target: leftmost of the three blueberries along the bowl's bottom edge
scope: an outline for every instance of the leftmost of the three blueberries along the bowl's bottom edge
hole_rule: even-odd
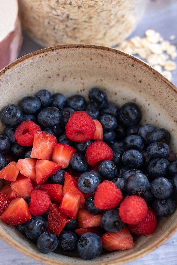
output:
[[[52,232],[44,232],[37,239],[37,248],[42,253],[50,253],[58,246],[58,238]]]

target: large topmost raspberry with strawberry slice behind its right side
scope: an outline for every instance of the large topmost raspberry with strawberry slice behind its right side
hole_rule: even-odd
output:
[[[85,111],[75,111],[69,118],[66,136],[74,142],[85,142],[94,138],[96,126],[94,120]]]

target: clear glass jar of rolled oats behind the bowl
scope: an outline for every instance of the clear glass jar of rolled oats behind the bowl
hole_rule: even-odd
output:
[[[142,18],[146,0],[19,0],[28,34],[40,45],[114,46]]]

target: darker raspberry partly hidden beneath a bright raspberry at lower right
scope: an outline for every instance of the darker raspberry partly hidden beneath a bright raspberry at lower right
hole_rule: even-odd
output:
[[[148,207],[148,212],[140,223],[137,225],[128,225],[128,229],[131,233],[139,236],[145,236],[152,234],[157,226],[157,216],[151,207]]]

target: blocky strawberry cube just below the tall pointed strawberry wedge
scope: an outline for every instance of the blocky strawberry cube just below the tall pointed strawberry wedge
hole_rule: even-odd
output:
[[[65,193],[60,204],[60,210],[72,219],[76,219],[80,205],[80,195],[73,192]]]

